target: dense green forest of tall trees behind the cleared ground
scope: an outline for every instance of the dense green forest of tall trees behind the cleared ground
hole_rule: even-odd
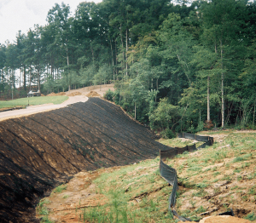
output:
[[[115,83],[106,98],[165,137],[254,129],[256,3],[62,3],[46,20],[0,45],[2,99]]]

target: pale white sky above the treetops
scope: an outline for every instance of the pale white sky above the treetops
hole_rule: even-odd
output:
[[[71,15],[81,2],[85,0],[0,0],[0,43],[14,43],[16,34],[27,33],[35,24],[44,26],[49,9],[55,3],[65,3],[70,6]],[[87,2],[100,3],[102,0]]]

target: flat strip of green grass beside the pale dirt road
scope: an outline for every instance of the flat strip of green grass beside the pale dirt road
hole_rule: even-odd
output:
[[[30,97],[15,100],[1,100],[0,108],[13,108],[17,106],[38,106],[48,103],[53,103],[55,105],[61,104],[63,101],[67,100],[67,96],[42,96],[42,97]]]

